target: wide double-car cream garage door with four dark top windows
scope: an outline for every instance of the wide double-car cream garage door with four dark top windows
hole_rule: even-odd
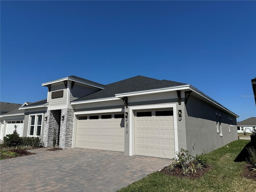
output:
[[[76,147],[124,151],[124,114],[79,115]]]

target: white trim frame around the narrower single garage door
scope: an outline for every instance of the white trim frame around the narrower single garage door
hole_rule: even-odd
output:
[[[133,156],[134,152],[134,110],[143,110],[143,109],[158,109],[158,108],[172,108],[173,109],[173,123],[174,123],[174,146],[175,152],[179,151],[178,148],[178,121],[177,121],[177,108],[176,104],[152,104],[152,105],[141,105],[141,106],[130,106],[129,113],[129,156]]]

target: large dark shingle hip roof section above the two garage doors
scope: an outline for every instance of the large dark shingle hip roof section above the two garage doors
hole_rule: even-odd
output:
[[[184,83],[169,81],[169,80],[158,80],[154,78],[148,78],[145,76],[136,76],[107,84],[105,89],[99,90],[98,92],[86,95],[84,97],[78,98],[73,102],[100,99],[100,98],[109,98],[114,97],[115,94],[127,93],[127,92],[136,92],[143,90],[152,90],[158,88],[172,87],[185,85]]]

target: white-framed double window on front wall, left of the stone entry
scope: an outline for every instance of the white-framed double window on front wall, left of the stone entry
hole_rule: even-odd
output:
[[[31,115],[30,116],[30,136],[40,136],[42,130],[42,115]]]

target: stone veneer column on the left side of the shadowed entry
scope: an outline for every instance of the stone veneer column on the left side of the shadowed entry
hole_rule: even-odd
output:
[[[53,146],[54,129],[56,130],[57,145],[60,122],[60,110],[47,110],[45,117],[47,117],[47,121],[44,123],[44,146]]]

